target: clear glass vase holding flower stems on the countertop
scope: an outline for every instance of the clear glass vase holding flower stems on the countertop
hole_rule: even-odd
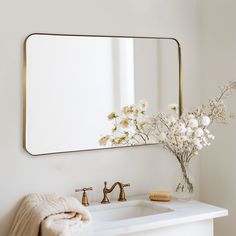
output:
[[[189,163],[180,164],[179,178],[175,188],[175,198],[178,200],[189,201],[193,198],[193,178],[189,170]]]

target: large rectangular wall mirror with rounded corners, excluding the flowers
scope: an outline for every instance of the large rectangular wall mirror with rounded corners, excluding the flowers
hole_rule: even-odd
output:
[[[26,150],[41,155],[111,147],[99,143],[111,132],[108,114],[143,99],[147,115],[172,103],[181,112],[180,65],[175,39],[30,35],[25,40]]]

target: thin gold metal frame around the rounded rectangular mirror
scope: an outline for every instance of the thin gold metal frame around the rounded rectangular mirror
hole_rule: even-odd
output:
[[[89,149],[89,150],[77,150],[77,151],[65,151],[65,152],[55,152],[55,153],[43,153],[38,155],[31,154],[27,148],[26,148],[26,43],[30,36],[32,35],[51,35],[51,36],[84,36],[84,37],[111,37],[111,38],[141,38],[141,39],[167,39],[167,40],[173,40],[176,42],[178,47],[178,62],[179,62],[179,117],[181,117],[183,113],[183,79],[182,79],[182,53],[181,53],[181,46],[179,41],[176,38],[173,37],[144,37],[144,36],[120,36],[120,35],[76,35],[76,34],[49,34],[49,33],[32,33],[28,35],[24,40],[24,82],[23,82],[23,148],[26,150],[27,153],[29,153],[31,156],[41,156],[41,155],[49,155],[49,154],[58,154],[58,153],[70,153],[70,152],[81,152],[81,151],[92,151],[92,150],[104,150],[104,148],[101,149]],[[142,144],[137,146],[143,146],[143,145],[155,145],[155,144]],[[130,146],[125,146],[130,147]],[[120,147],[109,147],[105,149],[111,149],[111,148],[120,148]]]

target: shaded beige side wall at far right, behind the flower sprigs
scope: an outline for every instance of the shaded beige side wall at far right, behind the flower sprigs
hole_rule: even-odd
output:
[[[236,79],[236,1],[201,1],[201,101],[215,94],[218,85]],[[236,113],[236,93],[230,98]],[[201,200],[229,209],[216,220],[216,236],[236,235],[236,121],[212,129],[216,139],[201,155]]]

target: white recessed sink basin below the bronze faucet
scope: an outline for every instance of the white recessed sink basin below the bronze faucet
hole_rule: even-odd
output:
[[[125,219],[163,214],[173,211],[159,206],[156,202],[147,200],[133,200],[90,206],[89,211],[96,222],[111,222]]]

